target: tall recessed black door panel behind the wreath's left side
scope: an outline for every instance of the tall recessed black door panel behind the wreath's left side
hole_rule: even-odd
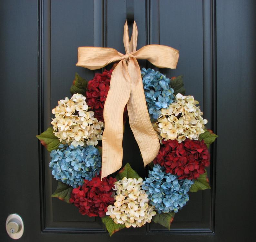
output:
[[[76,67],[77,47],[94,46],[94,1],[76,1],[76,8],[72,1],[49,1],[49,11],[44,12],[44,18],[51,19],[49,29],[51,32],[49,62],[51,63],[50,95],[51,108],[44,107],[44,113],[51,115],[51,110],[57,105],[58,100],[70,96],[70,86],[75,72],[88,80],[92,79],[94,72],[85,68]],[[95,6],[97,7],[97,5]],[[100,19],[98,19],[98,22]],[[67,57],[68,54],[68,57]],[[49,113],[50,112],[50,113]],[[48,116],[47,115],[47,116]],[[50,120],[47,125],[50,126]],[[47,126],[47,127],[48,127]],[[63,203],[58,199],[52,199],[51,194],[57,187],[57,181],[49,170],[49,154],[45,154],[44,179],[51,181],[45,187],[46,230],[68,230],[105,232],[99,218],[82,216],[76,207]],[[65,211],[65,212],[63,212]],[[86,223],[84,223],[86,222]]]

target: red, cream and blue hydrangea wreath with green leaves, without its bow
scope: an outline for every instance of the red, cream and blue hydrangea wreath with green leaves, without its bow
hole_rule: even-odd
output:
[[[114,68],[114,67],[113,67]],[[53,109],[53,127],[37,138],[50,151],[52,175],[59,181],[53,197],[74,203],[79,212],[102,218],[110,236],[123,228],[154,221],[170,229],[189,192],[210,189],[205,167],[217,138],[205,128],[198,102],[185,96],[182,76],[141,71],[148,112],[160,140],[158,155],[141,178],[127,163],[116,176],[100,179],[103,107],[113,69],[90,81],[77,73],[72,97]],[[128,117],[124,110],[124,121]]]

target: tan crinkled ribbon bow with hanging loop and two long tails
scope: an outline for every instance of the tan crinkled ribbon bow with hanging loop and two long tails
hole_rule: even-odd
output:
[[[76,66],[95,70],[119,61],[112,72],[110,89],[104,104],[102,178],[122,167],[123,110],[126,104],[130,127],[139,145],[144,166],[156,157],[160,148],[148,114],[137,59],[146,59],[156,67],[175,69],[179,51],[163,45],[147,45],[136,51],[137,37],[138,30],[134,21],[131,42],[129,41],[128,26],[125,22],[123,33],[125,55],[112,48],[78,48]]]

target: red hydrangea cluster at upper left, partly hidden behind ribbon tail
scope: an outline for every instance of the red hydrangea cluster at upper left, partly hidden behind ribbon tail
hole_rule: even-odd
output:
[[[85,93],[87,105],[94,111],[94,117],[102,122],[104,122],[103,107],[107,98],[112,72],[113,69],[110,71],[104,70],[102,74],[96,73],[94,78],[88,82],[87,91]],[[123,112],[124,122],[127,117],[127,108],[125,106]]]

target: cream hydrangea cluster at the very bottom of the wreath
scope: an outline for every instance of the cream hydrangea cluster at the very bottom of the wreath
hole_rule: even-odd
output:
[[[106,215],[110,215],[116,224],[125,224],[126,228],[141,227],[156,215],[154,206],[148,204],[148,195],[141,188],[142,184],[142,178],[126,177],[114,183],[117,195],[114,206],[108,206]]]

